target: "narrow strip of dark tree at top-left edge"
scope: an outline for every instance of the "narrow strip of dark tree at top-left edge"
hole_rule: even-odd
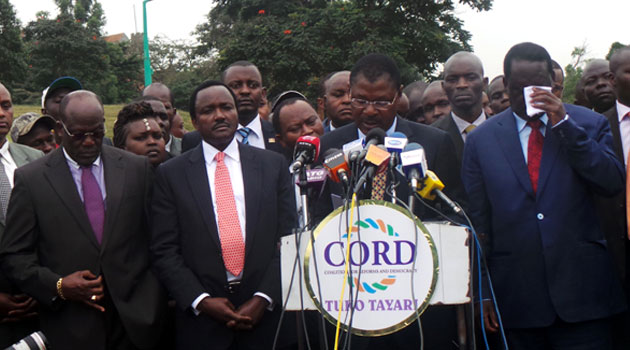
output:
[[[9,0],[0,0],[0,82],[9,89],[22,86],[26,77],[20,21]]]

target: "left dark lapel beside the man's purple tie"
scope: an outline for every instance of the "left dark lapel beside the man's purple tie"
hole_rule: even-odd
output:
[[[46,162],[46,165],[48,168],[45,170],[44,176],[50,183],[50,186],[57,193],[57,196],[59,196],[68,212],[75,218],[81,231],[97,249],[100,249],[94,235],[94,230],[92,230],[92,226],[90,225],[90,220],[85,212],[83,201],[81,201],[81,197],[79,196],[77,185],[68,168],[63,149],[59,148],[55,150]]]

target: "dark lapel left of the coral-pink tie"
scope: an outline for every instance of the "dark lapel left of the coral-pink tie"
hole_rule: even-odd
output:
[[[184,155],[185,156],[185,155]],[[210,184],[208,183],[208,171],[206,170],[206,161],[203,157],[202,144],[199,143],[188,154],[189,164],[185,169],[190,191],[197,202],[197,207],[201,210],[203,222],[206,224],[206,230],[210,233],[210,237],[214,243],[221,249],[221,241],[219,232],[217,231],[217,223],[214,218],[214,207],[212,206],[212,194],[210,193]]]

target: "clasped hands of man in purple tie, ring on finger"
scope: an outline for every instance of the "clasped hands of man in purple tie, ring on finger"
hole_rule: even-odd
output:
[[[103,276],[96,277],[91,271],[74,272],[63,278],[61,291],[67,300],[78,301],[101,312],[105,308],[97,304],[105,296]]]

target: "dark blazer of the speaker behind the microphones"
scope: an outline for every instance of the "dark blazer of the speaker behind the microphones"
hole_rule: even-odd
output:
[[[444,182],[444,192],[451,199],[460,201],[463,198],[464,190],[459,177],[460,166],[450,137],[442,130],[410,122],[400,117],[396,118],[396,131],[407,135],[409,142],[417,142],[422,145],[426,153],[429,169],[433,170],[440,180]],[[342,149],[344,144],[354,141],[358,137],[355,123],[335,129],[321,138],[320,154],[326,153],[330,148]],[[388,182],[390,180],[388,179]],[[407,179],[397,174],[396,180],[399,182],[396,188],[396,196],[407,203],[410,193]],[[330,195],[341,195],[342,192],[343,189],[340,184],[332,181],[326,183],[326,188],[315,208],[315,218],[317,220],[323,219],[333,210]],[[369,191],[364,191],[364,193],[366,194],[365,198],[367,198]],[[385,199],[390,200],[388,196]],[[447,209],[443,209],[448,213]],[[432,213],[426,211],[422,205],[416,205],[416,215],[423,219],[433,217]]]

